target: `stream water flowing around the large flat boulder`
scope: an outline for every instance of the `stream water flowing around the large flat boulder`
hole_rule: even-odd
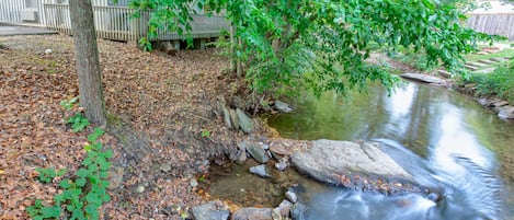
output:
[[[306,95],[294,114],[269,117],[292,139],[377,140],[437,202],[300,182],[299,219],[514,219],[514,124],[458,92],[408,83],[341,97]],[[498,197],[500,196],[500,198]]]

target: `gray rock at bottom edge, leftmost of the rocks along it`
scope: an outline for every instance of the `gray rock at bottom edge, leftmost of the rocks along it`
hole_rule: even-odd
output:
[[[192,208],[195,220],[227,220],[230,216],[228,208],[221,201],[209,201]]]

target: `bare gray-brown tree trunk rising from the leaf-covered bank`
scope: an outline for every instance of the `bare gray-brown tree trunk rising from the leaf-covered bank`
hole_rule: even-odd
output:
[[[91,123],[103,126],[107,119],[91,0],[70,0],[69,7],[79,73],[80,105]]]

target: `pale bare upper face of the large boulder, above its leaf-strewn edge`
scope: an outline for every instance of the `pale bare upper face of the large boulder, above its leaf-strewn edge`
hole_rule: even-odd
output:
[[[336,185],[347,186],[349,178],[345,177],[353,175],[359,175],[359,180],[378,176],[413,182],[413,177],[382,152],[376,142],[357,144],[350,141],[315,140],[310,150],[293,153],[292,162],[312,178]]]

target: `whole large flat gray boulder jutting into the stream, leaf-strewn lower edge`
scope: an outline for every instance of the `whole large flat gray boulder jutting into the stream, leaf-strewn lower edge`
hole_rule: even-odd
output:
[[[307,151],[296,151],[293,164],[312,178],[349,188],[381,192],[421,192],[413,177],[378,142],[312,141]]]

